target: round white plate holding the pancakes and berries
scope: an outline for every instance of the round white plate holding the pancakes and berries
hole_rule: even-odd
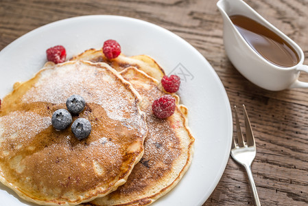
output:
[[[71,58],[85,49],[102,47],[109,38],[120,43],[123,54],[147,54],[166,73],[177,73],[182,78],[179,95],[189,108],[189,127],[196,138],[193,161],[174,190],[153,205],[202,205],[226,167],[232,115],[226,91],[214,69],[176,34],[123,16],[80,16],[50,23],[21,36],[0,52],[0,98],[12,90],[14,82],[28,80],[43,66],[47,48],[63,45]],[[0,200],[1,205],[33,205],[3,185]]]

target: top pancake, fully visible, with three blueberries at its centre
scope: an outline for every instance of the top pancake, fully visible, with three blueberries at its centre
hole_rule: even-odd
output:
[[[105,63],[47,64],[16,84],[0,109],[0,181],[42,205],[77,205],[126,182],[147,135],[141,97]],[[91,122],[83,140],[56,131],[51,115],[73,94],[86,100],[78,117]],[[73,121],[78,118],[73,117]]]

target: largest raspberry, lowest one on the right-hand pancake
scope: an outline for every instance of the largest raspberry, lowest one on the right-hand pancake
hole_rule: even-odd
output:
[[[154,100],[152,111],[158,118],[167,118],[176,111],[176,99],[171,95],[163,95],[161,98]]]

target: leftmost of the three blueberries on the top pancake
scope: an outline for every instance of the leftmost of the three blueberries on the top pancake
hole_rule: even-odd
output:
[[[64,130],[71,124],[71,113],[64,108],[60,108],[52,114],[51,124],[56,130]]]

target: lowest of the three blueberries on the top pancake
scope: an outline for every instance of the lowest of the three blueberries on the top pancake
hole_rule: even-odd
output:
[[[77,139],[84,139],[91,133],[91,123],[88,119],[78,118],[71,125],[71,130]]]

